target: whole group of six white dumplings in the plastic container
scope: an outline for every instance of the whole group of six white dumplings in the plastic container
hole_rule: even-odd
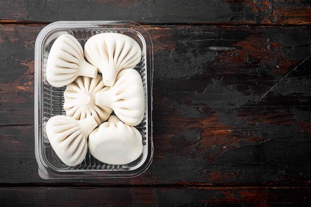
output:
[[[73,35],[55,40],[46,77],[54,87],[66,86],[66,116],[50,118],[46,133],[66,165],[80,164],[88,149],[99,161],[114,165],[142,154],[142,135],[135,126],[143,120],[145,98],[142,78],[134,69],[141,56],[139,44],[119,33],[90,37],[84,51]]]

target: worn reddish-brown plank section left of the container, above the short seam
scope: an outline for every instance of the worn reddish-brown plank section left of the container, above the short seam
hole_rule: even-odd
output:
[[[0,126],[34,124],[34,44],[41,27],[0,27]]]

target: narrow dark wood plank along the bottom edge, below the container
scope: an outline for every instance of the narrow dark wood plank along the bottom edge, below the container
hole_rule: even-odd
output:
[[[1,206],[23,207],[307,207],[311,189],[298,187],[5,187]]]

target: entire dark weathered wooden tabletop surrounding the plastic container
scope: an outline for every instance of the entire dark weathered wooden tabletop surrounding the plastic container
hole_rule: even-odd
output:
[[[59,20],[132,20],[154,44],[154,159],[43,180],[34,44]],[[0,0],[0,206],[310,206],[311,3]]]

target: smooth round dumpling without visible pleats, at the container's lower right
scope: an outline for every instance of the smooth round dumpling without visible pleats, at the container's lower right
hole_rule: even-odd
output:
[[[96,128],[88,138],[88,149],[99,161],[122,165],[135,161],[143,153],[141,133],[116,116]]]

